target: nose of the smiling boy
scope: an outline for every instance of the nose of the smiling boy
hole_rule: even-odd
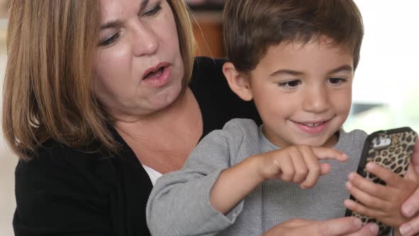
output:
[[[329,95],[323,87],[309,90],[305,93],[303,109],[307,112],[322,113],[329,109]]]

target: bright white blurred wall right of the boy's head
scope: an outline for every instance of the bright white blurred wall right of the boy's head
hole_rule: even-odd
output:
[[[410,126],[419,131],[419,1],[355,0],[364,18],[355,103],[383,103],[345,127],[368,132]]]

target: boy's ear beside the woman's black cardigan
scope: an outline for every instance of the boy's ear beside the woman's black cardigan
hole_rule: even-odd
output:
[[[236,95],[239,95],[239,97],[245,101],[253,99],[249,79],[242,73],[239,73],[233,63],[224,63],[222,66],[222,73],[224,73],[230,88]]]

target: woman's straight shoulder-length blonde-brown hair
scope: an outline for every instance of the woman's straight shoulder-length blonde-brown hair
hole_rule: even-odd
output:
[[[189,11],[183,0],[167,1],[178,28],[186,87],[194,47]],[[99,1],[11,1],[2,124],[20,159],[31,159],[48,139],[72,148],[97,140],[118,150],[107,127],[111,119],[91,86],[99,29]]]

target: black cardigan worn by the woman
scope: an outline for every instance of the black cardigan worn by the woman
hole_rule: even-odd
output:
[[[229,89],[223,63],[195,59],[190,88],[202,112],[203,136],[234,117],[261,123],[254,104]],[[122,146],[115,156],[50,140],[32,161],[18,162],[16,235],[149,235],[150,178],[124,139],[113,127],[109,129]]]

